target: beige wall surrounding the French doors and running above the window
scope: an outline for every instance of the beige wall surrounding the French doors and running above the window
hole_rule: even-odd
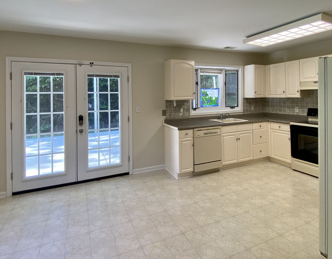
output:
[[[231,51],[135,44],[0,31],[0,89],[5,93],[5,57],[35,57],[121,62],[132,64],[133,168],[164,164],[164,128],[161,110],[164,100],[164,61],[195,60],[197,63],[262,64],[263,55]],[[135,105],[141,112],[135,113]],[[5,110],[5,94],[0,95]],[[0,113],[0,192],[6,191],[5,112]]]

